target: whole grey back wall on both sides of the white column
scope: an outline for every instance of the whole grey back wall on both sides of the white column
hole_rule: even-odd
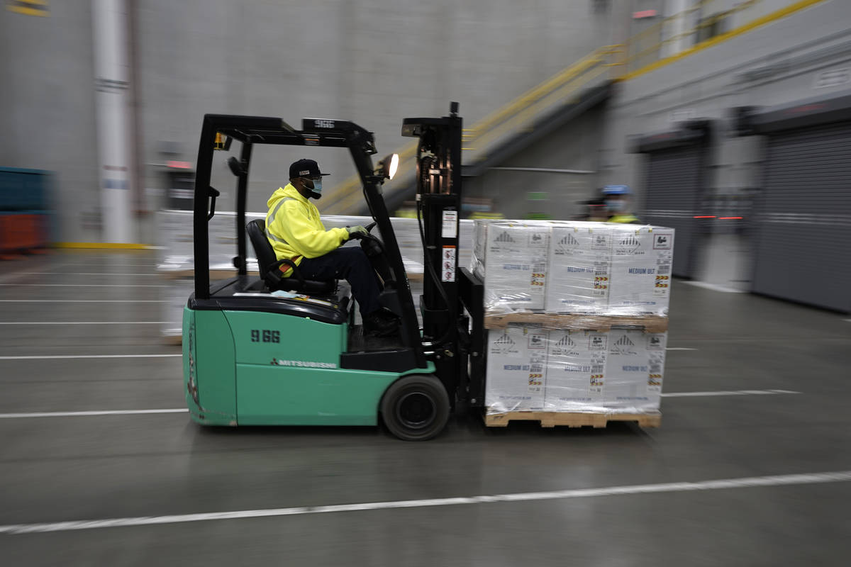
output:
[[[57,173],[60,239],[98,241],[90,0],[50,3],[49,17],[0,10],[2,161]],[[142,208],[163,204],[162,164],[191,162],[206,112],[352,120],[389,153],[405,116],[442,116],[460,101],[467,124],[600,45],[612,10],[591,0],[129,0]],[[613,9],[614,10],[614,9]],[[8,77],[8,78],[7,78]],[[169,153],[163,153],[163,150]],[[261,210],[288,163],[258,152],[249,208]],[[342,182],[345,152],[311,150]],[[232,198],[224,158],[214,185]],[[330,188],[333,191],[333,186]],[[227,202],[227,201],[225,201]],[[322,204],[322,203],[320,203]],[[224,203],[223,203],[224,205]],[[230,206],[228,206],[230,208]],[[135,217],[154,241],[150,215]]]

